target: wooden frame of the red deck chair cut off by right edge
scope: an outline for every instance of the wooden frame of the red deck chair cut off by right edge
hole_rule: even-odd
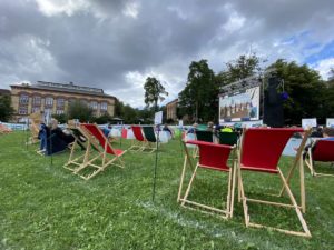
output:
[[[321,159],[315,159],[314,160],[314,153],[317,153],[317,152],[314,152],[315,150],[317,150],[316,147],[318,147],[318,143],[331,143],[331,144],[334,144],[334,141],[330,141],[330,140],[317,140],[315,142],[313,142],[312,147],[308,148],[307,152],[306,152],[306,157],[305,157],[305,164],[308,167],[310,171],[311,171],[311,174],[313,177],[334,177],[334,174],[332,173],[322,173],[322,172],[316,172],[315,169],[314,169],[314,161],[322,161]],[[334,150],[332,151],[333,153],[333,160],[332,159],[326,159],[325,161],[323,162],[332,162],[332,166],[333,166],[333,162],[334,162]]]

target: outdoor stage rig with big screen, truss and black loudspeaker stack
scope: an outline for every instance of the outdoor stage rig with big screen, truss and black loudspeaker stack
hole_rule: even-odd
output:
[[[219,94],[219,123],[283,127],[283,92],[284,81],[275,70],[224,86]]]

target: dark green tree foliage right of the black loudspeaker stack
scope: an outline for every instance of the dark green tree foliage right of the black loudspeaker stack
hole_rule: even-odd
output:
[[[324,109],[331,101],[326,100],[328,91],[317,71],[306,64],[298,66],[294,61],[286,62],[283,59],[268,68],[276,68],[277,76],[284,79],[284,88],[289,96],[284,102],[286,123],[301,124],[302,118],[324,119]]]

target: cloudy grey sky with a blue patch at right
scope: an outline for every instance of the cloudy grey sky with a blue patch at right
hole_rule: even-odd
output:
[[[256,52],[334,67],[333,0],[0,0],[0,88],[75,82],[144,106],[144,82],[183,90],[188,66],[215,72]]]

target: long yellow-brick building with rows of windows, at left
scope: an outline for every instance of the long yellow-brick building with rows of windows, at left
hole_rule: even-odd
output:
[[[66,113],[71,102],[88,104],[96,117],[115,114],[116,98],[106,94],[102,89],[75,86],[72,82],[55,83],[38,81],[35,84],[12,84],[11,103],[16,110],[14,119],[19,120],[30,113],[43,111],[51,114]]]

